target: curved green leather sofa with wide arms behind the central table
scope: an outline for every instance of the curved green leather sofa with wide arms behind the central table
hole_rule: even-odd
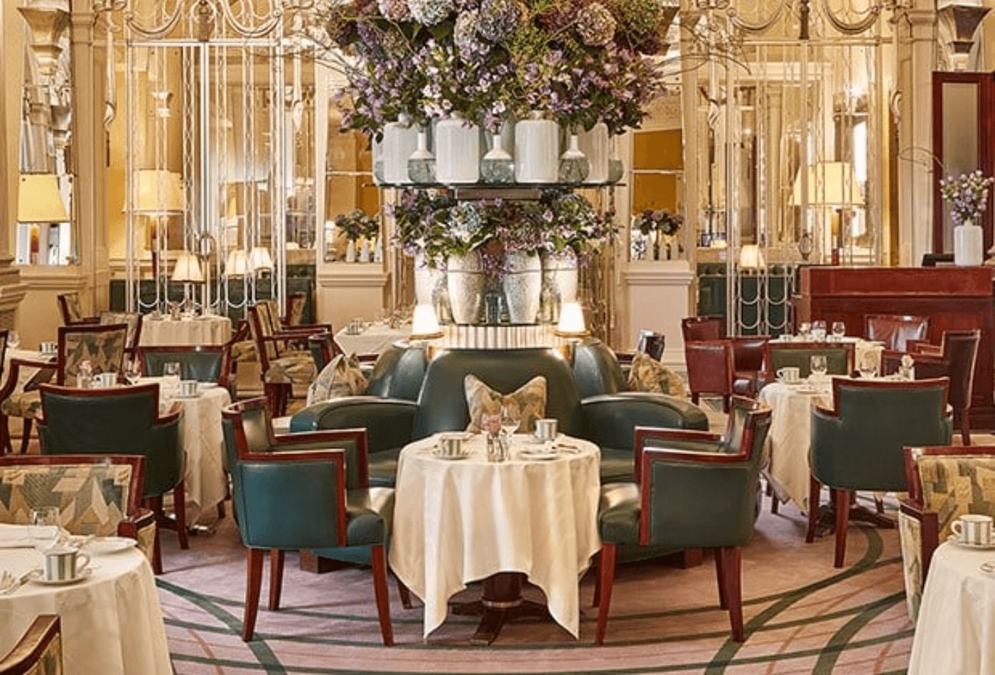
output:
[[[546,417],[556,418],[564,433],[600,445],[603,482],[631,479],[635,426],[708,427],[696,406],[662,394],[612,392],[581,399],[570,364],[552,349],[454,349],[428,363],[417,402],[347,397],[305,408],[292,419],[291,430],[365,427],[371,480],[374,485],[393,485],[397,456],[405,444],[437,431],[467,427],[470,418],[463,380],[471,373],[500,392],[511,392],[536,375],[544,376]]]

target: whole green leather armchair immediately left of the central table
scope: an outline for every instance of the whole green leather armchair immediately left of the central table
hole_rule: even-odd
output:
[[[369,547],[380,633],[385,645],[393,644],[384,547],[394,491],[369,486],[365,431],[274,434],[265,399],[225,409],[223,423],[239,534],[248,549],[242,639],[253,639],[266,551],[269,607],[276,610],[286,551],[327,556],[340,548]]]

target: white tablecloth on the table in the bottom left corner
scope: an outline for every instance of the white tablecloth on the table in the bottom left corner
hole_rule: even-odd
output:
[[[13,575],[40,564],[34,549],[0,549],[0,570]],[[38,614],[59,614],[67,675],[172,673],[159,596],[145,557],[130,549],[94,556],[93,565],[93,576],[73,586],[29,582],[0,595],[0,654],[17,643]]]

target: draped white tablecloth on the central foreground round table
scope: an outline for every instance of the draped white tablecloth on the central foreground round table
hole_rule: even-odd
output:
[[[447,601],[498,572],[524,573],[546,595],[549,613],[575,637],[578,582],[599,550],[598,464],[593,443],[553,460],[487,460],[483,435],[472,456],[445,460],[434,438],[407,445],[397,466],[390,566],[425,602],[424,634],[446,619]]]

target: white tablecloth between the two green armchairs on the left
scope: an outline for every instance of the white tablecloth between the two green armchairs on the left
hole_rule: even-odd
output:
[[[142,378],[141,383],[159,385],[159,406],[168,409],[173,403],[183,408],[180,418],[180,443],[186,452],[187,523],[196,523],[201,516],[224,500],[228,493],[224,471],[225,436],[221,426],[221,411],[231,405],[232,398],[224,387],[201,385],[196,399],[176,398],[175,387],[167,378]]]

